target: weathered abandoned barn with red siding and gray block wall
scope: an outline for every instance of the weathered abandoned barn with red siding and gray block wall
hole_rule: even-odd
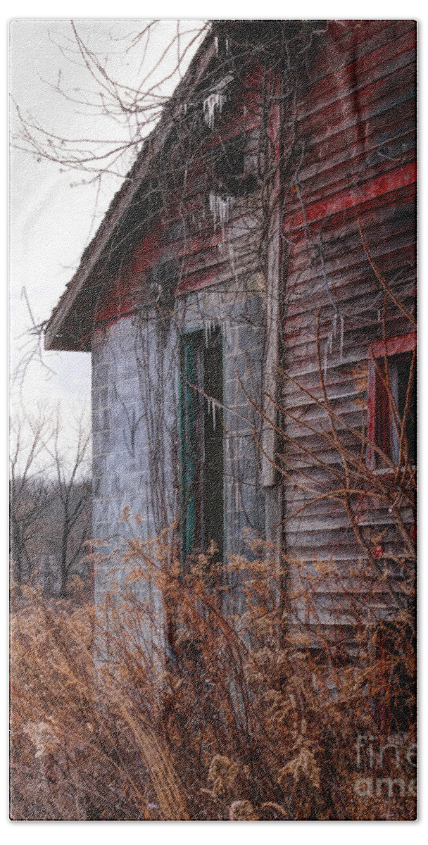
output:
[[[411,556],[415,39],[213,24],[46,329],[91,353],[107,548],[128,508],[220,569],[246,530],[344,572]]]

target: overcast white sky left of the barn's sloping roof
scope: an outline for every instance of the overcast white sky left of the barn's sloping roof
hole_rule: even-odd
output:
[[[79,35],[104,57],[109,54],[111,74],[128,85],[138,85],[142,74],[154,65],[176,34],[176,21],[161,21],[149,42],[144,67],[142,50],[125,52],[133,37],[144,27],[143,19],[77,19]],[[203,25],[203,21],[181,21],[181,30]],[[186,37],[181,39],[181,51]],[[71,49],[73,62],[63,51]],[[194,52],[196,46],[192,49]],[[188,58],[192,55],[188,54]],[[176,63],[176,47],[156,71],[161,79]],[[65,100],[55,90],[61,69],[62,85],[67,90],[95,90],[95,82],[76,51],[70,21],[64,19],[21,19],[10,24],[10,90],[24,113],[31,113],[43,127],[64,137],[127,139],[127,128],[108,117],[100,117]],[[164,86],[171,94],[178,77]],[[11,114],[12,130],[16,128]],[[127,161],[129,165],[131,161]],[[126,172],[125,167],[124,172]],[[121,184],[117,177],[103,177],[100,194],[96,185],[82,183],[84,174],[60,172],[60,166],[41,159],[35,161],[24,152],[12,149],[10,171],[10,346],[11,371],[30,348],[30,314],[23,288],[28,295],[36,323],[49,317],[64,287],[76,270],[84,247],[95,233],[113,194]],[[87,178],[87,177],[86,177]],[[31,341],[30,341],[31,342]],[[34,341],[33,341],[34,342]],[[25,406],[55,406],[58,402],[68,413],[89,407],[89,354],[46,352],[48,373],[41,363],[31,365],[24,382]],[[12,412],[19,401],[12,386]]]

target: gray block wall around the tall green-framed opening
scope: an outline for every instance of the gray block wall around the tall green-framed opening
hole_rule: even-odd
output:
[[[127,575],[109,560],[109,551],[123,548],[133,533],[158,536],[179,515],[179,339],[210,324],[221,327],[224,342],[225,553],[246,551],[246,530],[264,535],[265,493],[254,438],[256,432],[260,439],[262,419],[242,390],[261,406],[265,302],[257,274],[181,295],[165,321],[152,308],[95,331],[93,533],[105,541],[95,571],[97,602]],[[131,517],[123,521],[127,508]],[[159,596],[148,598],[160,602]]]

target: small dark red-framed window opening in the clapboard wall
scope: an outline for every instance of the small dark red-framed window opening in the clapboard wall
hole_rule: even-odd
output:
[[[388,351],[388,350],[387,350]],[[386,371],[387,365],[387,371]],[[395,466],[403,465],[407,453],[410,465],[416,463],[416,372],[414,352],[377,357],[372,360],[369,439]],[[374,450],[375,451],[375,450]],[[382,455],[372,456],[382,466]]]

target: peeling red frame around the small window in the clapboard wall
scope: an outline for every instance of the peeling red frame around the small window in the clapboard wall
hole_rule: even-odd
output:
[[[391,337],[387,341],[373,343],[369,350],[369,388],[368,388],[368,430],[367,430],[367,465],[371,469],[377,467],[377,448],[385,455],[391,455],[389,427],[386,420],[391,419],[391,405],[379,373],[380,365],[377,359],[385,360],[414,352],[416,349],[416,333],[400,337]]]

